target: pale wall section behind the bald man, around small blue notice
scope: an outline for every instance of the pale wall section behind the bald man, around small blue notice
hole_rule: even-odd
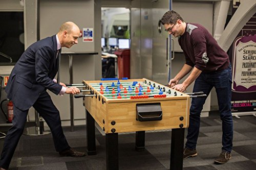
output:
[[[99,55],[73,55],[73,83],[81,83],[82,80],[99,80],[101,78],[101,48],[100,48],[100,4],[101,1],[62,0],[40,1],[40,39],[52,36],[58,32],[60,25],[66,21],[75,22],[80,30],[82,28],[94,28],[94,41],[82,42],[69,48],[62,48],[62,52],[98,52]],[[60,81],[69,83],[69,57],[61,56]],[[62,125],[70,125],[70,96],[65,94],[57,96],[49,92],[54,104],[60,111]],[[84,119],[85,111],[82,98],[74,99],[74,118]],[[63,122],[63,120],[68,120]],[[84,125],[84,120],[75,120],[75,125]]]

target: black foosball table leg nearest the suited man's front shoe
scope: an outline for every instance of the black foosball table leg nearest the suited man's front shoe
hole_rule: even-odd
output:
[[[87,154],[96,155],[95,120],[86,110]]]

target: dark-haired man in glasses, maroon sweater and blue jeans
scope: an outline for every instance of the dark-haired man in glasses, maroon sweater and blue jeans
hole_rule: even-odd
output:
[[[203,26],[184,22],[175,11],[166,12],[161,22],[165,31],[179,38],[179,44],[186,60],[180,72],[169,81],[168,85],[183,92],[195,81],[193,92],[203,91],[207,96],[212,87],[216,88],[223,134],[222,151],[215,163],[226,163],[231,158],[233,139],[230,103],[232,82],[228,55]],[[179,81],[190,71],[189,76],[179,84]],[[192,99],[183,159],[197,156],[196,144],[200,128],[200,114],[205,100],[206,98]]]

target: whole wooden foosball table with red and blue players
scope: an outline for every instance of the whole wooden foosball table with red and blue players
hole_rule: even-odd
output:
[[[96,154],[95,122],[105,132],[106,169],[118,169],[118,133],[136,132],[135,148],[145,149],[145,131],[172,129],[170,169],[182,169],[184,128],[189,124],[190,97],[148,79],[83,81],[87,152]]]

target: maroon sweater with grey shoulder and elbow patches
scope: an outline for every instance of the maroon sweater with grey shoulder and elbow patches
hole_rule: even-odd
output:
[[[201,25],[186,23],[185,33],[179,37],[186,64],[204,72],[219,71],[228,67],[228,55]]]

